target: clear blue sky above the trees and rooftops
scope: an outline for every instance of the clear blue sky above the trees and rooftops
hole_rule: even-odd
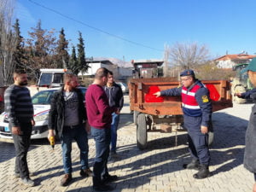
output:
[[[16,0],[21,36],[64,28],[69,47],[82,32],[86,57],[163,59],[165,46],[206,45],[212,58],[256,54],[255,0]]]

